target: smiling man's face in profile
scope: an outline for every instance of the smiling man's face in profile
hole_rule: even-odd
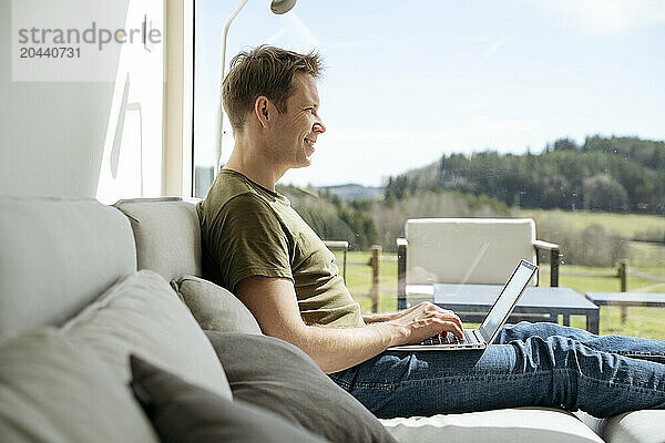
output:
[[[295,93],[288,99],[285,114],[277,115],[270,151],[275,159],[287,168],[311,164],[317,137],[326,132],[318,115],[319,97],[316,83],[307,73],[294,76]]]

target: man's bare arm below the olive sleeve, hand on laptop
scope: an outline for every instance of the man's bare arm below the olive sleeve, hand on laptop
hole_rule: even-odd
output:
[[[444,330],[462,337],[460,319],[432,303],[421,303],[387,321],[361,328],[305,324],[291,280],[248,277],[235,289],[266,336],[286,340],[331,373],[361,363],[391,346],[420,342]]]

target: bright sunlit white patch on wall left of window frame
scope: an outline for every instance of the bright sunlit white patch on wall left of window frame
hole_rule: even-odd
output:
[[[163,28],[160,1],[130,2],[125,28]],[[163,44],[124,44],[115,76],[96,198],[156,197],[162,189]]]

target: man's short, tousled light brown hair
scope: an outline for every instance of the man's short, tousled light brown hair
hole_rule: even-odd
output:
[[[321,71],[321,58],[315,51],[298,54],[262,45],[238,53],[231,61],[231,70],[222,83],[222,101],[233,131],[243,131],[247,113],[254,110],[254,102],[262,95],[284,114],[286,102],[295,92],[296,72],[318,79]]]

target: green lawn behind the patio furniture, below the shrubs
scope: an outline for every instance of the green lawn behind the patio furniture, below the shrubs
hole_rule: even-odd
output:
[[[338,264],[341,268],[341,254],[336,253]],[[368,262],[370,253],[351,251],[347,255],[348,268],[346,282],[354,298],[360,303],[364,312],[371,311],[371,300],[367,297],[371,287],[371,267],[356,265],[355,262]],[[380,286],[381,297],[379,299],[379,311],[389,312],[397,309],[397,255],[383,254],[381,261]],[[354,262],[354,264],[350,264]],[[628,290],[641,292],[665,292],[665,284],[654,282],[637,277],[631,277],[630,272],[644,272],[649,275],[665,276],[663,267],[630,267]],[[340,269],[341,272],[341,269]],[[618,278],[594,277],[594,275],[613,275],[615,268],[586,268],[581,266],[562,266],[560,268],[559,286],[569,287],[576,292],[618,292]],[[581,276],[567,276],[565,274]],[[550,276],[548,266],[542,267],[541,282],[549,286]],[[658,308],[628,308],[626,324],[621,324],[621,309],[617,307],[601,308],[601,333],[620,333],[646,338],[665,338],[665,309]],[[571,324],[583,328],[583,317],[572,317]]]

